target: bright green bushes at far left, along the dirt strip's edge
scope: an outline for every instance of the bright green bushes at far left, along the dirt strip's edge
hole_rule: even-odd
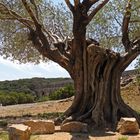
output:
[[[26,93],[2,93],[0,92],[0,103],[2,105],[14,105],[14,104],[23,104],[23,103],[33,103],[34,96]]]

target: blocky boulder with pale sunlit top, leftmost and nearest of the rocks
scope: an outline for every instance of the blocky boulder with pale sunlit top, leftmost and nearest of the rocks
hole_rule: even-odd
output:
[[[13,124],[9,126],[9,140],[29,140],[30,127],[23,124]]]

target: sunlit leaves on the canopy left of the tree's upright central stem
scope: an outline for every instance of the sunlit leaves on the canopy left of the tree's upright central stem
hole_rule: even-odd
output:
[[[11,10],[14,10],[23,18],[30,19],[21,1],[0,0],[0,2],[4,3],[8,8],[10,7]],[[61,34],[64,36],[70,35],[70,14],[64,8],[64,5],[55,5],[51,0],[36,0],[35,2],[38,7],[39,22],[44,24],[44,27],[59,33],[59,36]],[[30,6],[35,12],[33,5],[30,4]],[[4,58],[18,60],[22,63],[39,63],[40,60],[48,61],[48,59],[42,58],[33,47],[33,43],[29,40],[29,30],[16,20],[4,20],[8,17],[11,16],[2,10],[0,11],[0,19],[3,19],[0,21],[0,27],[2,27],[0,28],[0,42],[2,42],[0,54]],[[56,29],[57,31],[55,31]]]

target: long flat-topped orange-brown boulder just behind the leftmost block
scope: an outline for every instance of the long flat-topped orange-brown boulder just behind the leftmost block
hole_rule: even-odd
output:
[[[28,120],[24,124],[31,127],[32,134],[52,134],[55,131],[54,122],[51,120]]]

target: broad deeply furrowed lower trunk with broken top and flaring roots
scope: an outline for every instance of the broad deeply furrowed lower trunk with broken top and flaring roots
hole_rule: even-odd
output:
[[[66,111],[71,117],[64,123],[78,120],[98,128],[116,128],[120,117],[135,117],[140,124],[140,116],[124,103],[120,95],[122,60],[118,53],[96,45],[88,46],[86,71],[81,69],[79,78],[74,80],[77,94]]]

